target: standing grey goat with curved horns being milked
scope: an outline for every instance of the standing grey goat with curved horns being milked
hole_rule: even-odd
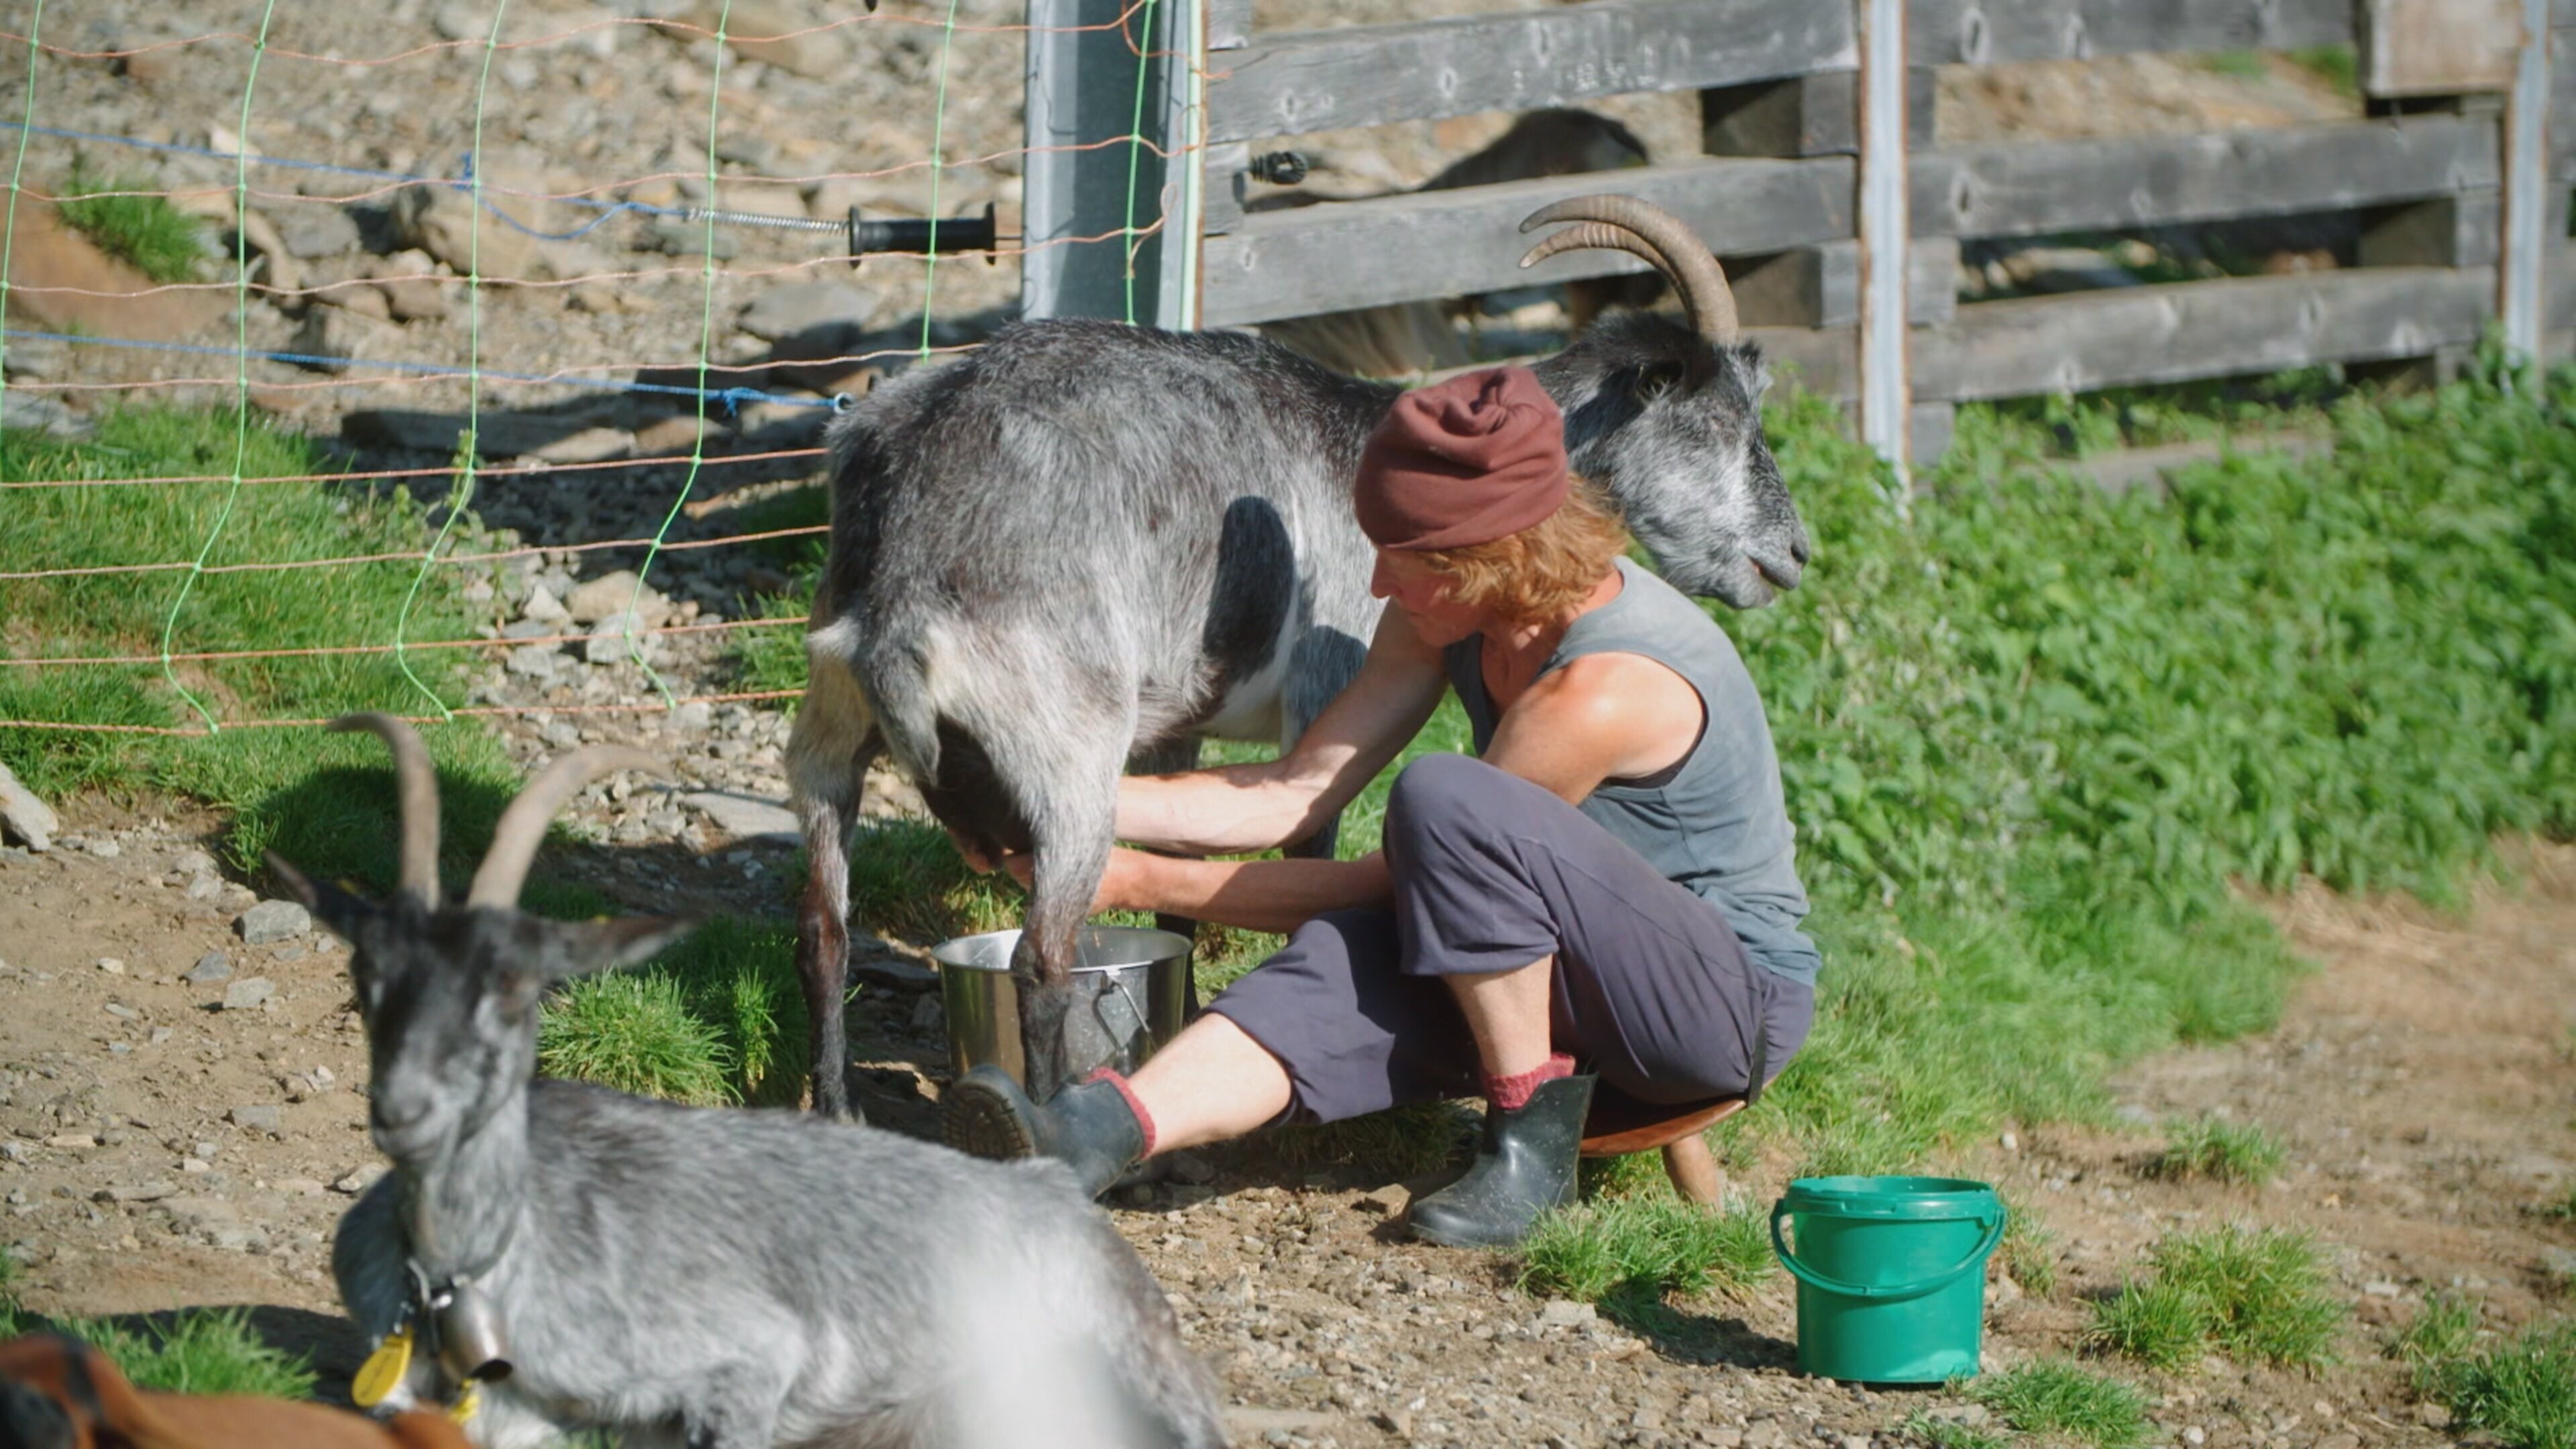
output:
[[[1558,201],[1522,229],[1553,222],[1574,224],[1522,266],[1625,250],[1692,320],[1613,315],[1535,364],[1574,469],[1674,585],[1736,608],[1793,588],[1808,536],[1718,260],[1633,196]],[[786,761],[817,1111],[848,1114],[845,851],[876,753],[979,851],[1036,851],[1012,980],[1028,1085],[1051,1093],[1121,766],[1177,768],[1200,735],[1285,748],[1358,673],[1378,601],[1350,485],[1396,392],[1260,338],[1023,322],[835,423],[832,557]],[[1309,848],[1332,851],[1332,822]]]

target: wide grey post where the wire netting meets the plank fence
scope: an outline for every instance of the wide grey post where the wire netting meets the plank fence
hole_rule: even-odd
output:
[[[1167,266],[1164,242],[1185,229],[1180,211],[1195,227],[1195,209],[1172,206],[1167,227],[1136,237],[1133,258],[1128,227],[1144,232],[1170,201],[1198,196],[1195,175],[1175,175],[1180,188],[1164,196],[1167,173],[1195,165],[1167,168],[1162,152],[1175,124],[1195,124],[1200,26],[1200,0],[1028,0],[1023,315],[1185,325],[1195,258]],[[1128,134],[1141,142],[1100,144]]]

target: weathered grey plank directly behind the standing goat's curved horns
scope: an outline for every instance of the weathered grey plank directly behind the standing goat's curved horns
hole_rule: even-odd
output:
[[[1685,219],[1718,255],[1780,253],[1852,235],[1852,162],[1690,160],[1615,178],[1551,175],[1247,214],[1208,237],[1206,325],[1267,322],[1646,271],[1625,253],[1569,253],[1520,271],[1538,237],[1520,219],[1564,196],[1613,188]]]

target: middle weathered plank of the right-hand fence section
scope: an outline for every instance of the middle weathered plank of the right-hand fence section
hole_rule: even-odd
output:
[[[2496,121],[2470,116],[1942,147],[1914,165],[1914,235],[2027,237],[2439,196],[2496,186]]]

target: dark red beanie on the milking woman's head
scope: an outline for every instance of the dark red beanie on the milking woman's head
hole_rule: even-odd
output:
[[[1360,449],[1352,508],[1381,549],[1463,549],[1566,500],[1566,420],[1525,366],[1417,387]]]

